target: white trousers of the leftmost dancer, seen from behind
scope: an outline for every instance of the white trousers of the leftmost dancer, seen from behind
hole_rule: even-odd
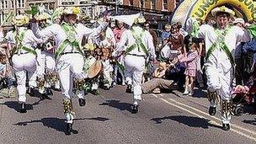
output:
[[[22,55],[13,55],[13,69],[15,75],[17,77],[17,89],[19,93],[19,101],[25,102],[26,101],[26,72],[28,72],[28,78],[34,77],[32,79],[35,80],[35,70],[36,70],[36,58],[33,54],[22,54]],[[30,84],[33,81],[29,81],[29,86],[35,85]]]

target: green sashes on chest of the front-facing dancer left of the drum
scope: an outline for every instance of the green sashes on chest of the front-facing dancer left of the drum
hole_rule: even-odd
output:
[[[74,27],[70,24],[63,23],[61,24],[61,28],[65,31],[67,39],[61,42],[54,56],[60,56],[61,53],[67,48],[67,45],[71,45],[73,48],[75,48],[77,51],[83,54],[83,52],[80,49],[80,45],[76,39],[76,30],[74,29]]]

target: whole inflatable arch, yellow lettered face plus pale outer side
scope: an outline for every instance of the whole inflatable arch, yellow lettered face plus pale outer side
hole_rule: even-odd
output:
[[[246,20],[256,19],[256,3],[253,0],[184,0],[174,11],[172,22],[184,24],[190,17],[205,20],[211,9],[223,4],[232,5],[236,16],[242,15]]]

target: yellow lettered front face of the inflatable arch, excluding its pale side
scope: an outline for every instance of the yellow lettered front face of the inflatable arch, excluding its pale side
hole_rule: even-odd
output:
[[[231,4],[240,9],[248,20],[256,19],[256,3],[253,0],[198,0],[191,8],[190,17],[205,20],[211,9],[223,4]]]

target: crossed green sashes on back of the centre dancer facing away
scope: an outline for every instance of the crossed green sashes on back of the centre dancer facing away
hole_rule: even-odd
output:
[[[147,48],[142,43],[142,40],[141,40],[143,32],[144,32],[144,29],[143,29],[143,31],[141,32],[140,35],[136,35],[135,29],[131,28],[131,34],[134,37],[134,39],[136,40],[136,42],[126,49],[125,55],[127,55],[129,52],[131,52],[132,50],[134,50],[137,47],[138,51],[143,51],[148,56]]]

